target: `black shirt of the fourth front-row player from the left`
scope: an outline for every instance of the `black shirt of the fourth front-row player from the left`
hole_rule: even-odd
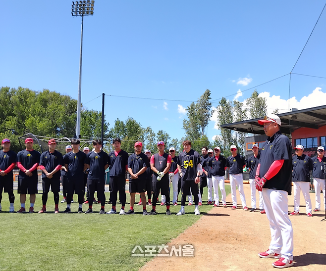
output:
[[[63,163],[68,165],[67,178],[70,180],[84,180],[84,164],[86,154],[82,151],[73,153],[72,151],[64,155]]]

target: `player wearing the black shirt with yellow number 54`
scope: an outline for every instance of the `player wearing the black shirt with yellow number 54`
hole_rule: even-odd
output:
[[[190,195],[190,190],[194,196],[195,215],[200,215],[198,210],[198,183],[200,176],[203,174],[202,165],[199,153],[191,149],[191,142],[184,140],[182,142],[184,151],[179,154],[177,164],[178,171],[181,176],[181,210],[176,214],[177,216],[184,215],[184,206],[186,203],[186,196]]]

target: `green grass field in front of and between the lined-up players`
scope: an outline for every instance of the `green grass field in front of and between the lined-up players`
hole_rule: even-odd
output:
[[[227,194],[230,186],[225,185]],[[109,194],[106,194],[107,199]],[[20,208],[15,194],[15,211]],[[180,197],[180,195],[179,195]],[[76,195],[75,198],[77,199]],[[139,195],[136,196],[138,201]],[[207,203],[204,189],[205,215],[212,206]],[[62,196],[60,196],[62,200]],[[129,194],[127,194],[129,202]],[[179,204],[179,203],[178,203]],[[99,215],[100,205],[94,204],[93,214],[55,214],[53,194],[49,193],[46,214],[9,214],[9,201],[2,193],[0,213],[0,270],[1,271],[102,271],[138,270],[152,257],[131,257],[136,245],[162,245],[194,224],[200,216],[194,215],[194,206],[186,206],[186,214],[175,216],[180,205],[171,206],[171,216],[165,215],[165,206],[157,206],[156,216],[143,216],[142,207],[135,205],[136,215]],[[59,203],[63,211],[65,203]],[[83,205],[86,211],[88,206]],[[109,211],[111,205],[107,206]],[[26,210],[29,208],[27,198]],[[42,208],[42,195],[37,195],[35,211]],[[126,205],[126,210],[129,204]],[[120,205],[117,204],[117,209]],[[150,206],[148,206],[148,211]],[[71,204],[77,212],[78,203]]]

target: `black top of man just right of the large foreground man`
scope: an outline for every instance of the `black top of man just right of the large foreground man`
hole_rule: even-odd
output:
[[[313,161],[308,155],[295,155],[292,158],[292,181],[310,182],[310,171],[313,170]]]

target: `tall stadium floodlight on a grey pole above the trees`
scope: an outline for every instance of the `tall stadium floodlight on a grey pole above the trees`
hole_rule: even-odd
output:
[[[71,5],[71,15],[72,16],[81,16],[82,17],[82,29],[81,29],[81,38],[80,38],[80,60],[79,60],[79,81],[78,81],[76,138],[80,138],[81,74],[82,74],[82,55],[83,55],[84,16],[91,16],[91,15],[94,14],[94,2],[95,2],[94,0],[92,0],[92,1],[90,1],[90,0],[72,1],[72,5]]]

